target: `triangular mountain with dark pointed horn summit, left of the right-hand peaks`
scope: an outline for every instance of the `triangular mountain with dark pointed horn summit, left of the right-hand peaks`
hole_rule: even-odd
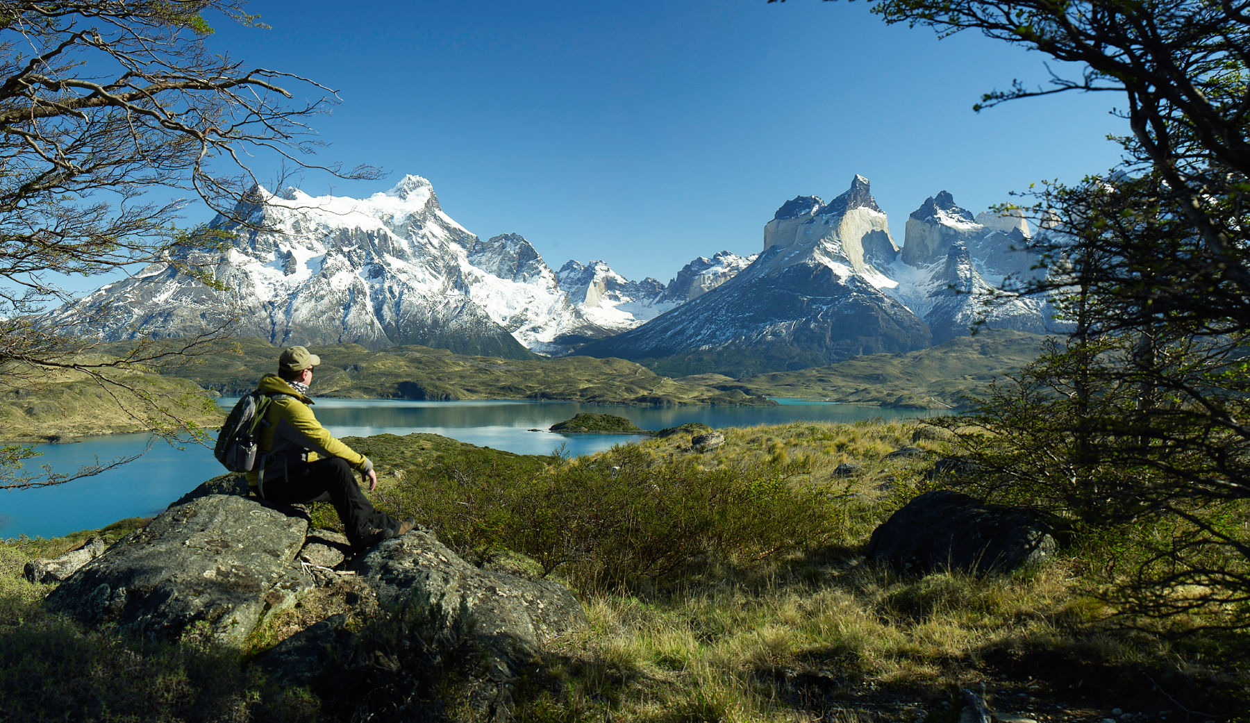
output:
[[[885,293],[899,246],[885,214],[855,176],[829,201],[799,196],[764,228],[764,253],[728,281],[579,350],[594,356],[682,355],[690,372],[751,372],[829,364],[931,344],[929,328]],[[706,355],[719,355],[708,360]],[[694,360],[699,356],[699,360]],[[708,369],[702,369],[704,360]]]

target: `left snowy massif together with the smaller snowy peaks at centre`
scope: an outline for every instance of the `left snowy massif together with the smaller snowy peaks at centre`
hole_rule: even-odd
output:
[[[631,329],[689,298],[651,278],[630,281],[604,261],[569,261],[556,274],[519,234],[470,233],[414,175],[368,199],[258,188],[235,214],[248,224],[224,216],[210,224],[236,234],[225,253],[182,251],[50,318],[112,340],[185,336],[238,316],[239,334],[274,344],[422,344],[522,356],[525,348],[566,354],[569,344]],[[721,278],[745,265],[735,268],[735,259],[726,256]]]

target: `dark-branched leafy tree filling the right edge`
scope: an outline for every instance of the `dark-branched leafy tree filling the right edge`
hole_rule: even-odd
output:
[[[770,0],[772,1],[772,0]],[[1032,194],[1050,294],[1074,331],[984,400],[965,434],[986,497],[1046,507],[1135,560],[1109,593],[1156,615],[1250,625],[1250,3],[875,0],[890,24],[1040,51],[1074,75],[976,110],[1115,93],[1124,161]]]

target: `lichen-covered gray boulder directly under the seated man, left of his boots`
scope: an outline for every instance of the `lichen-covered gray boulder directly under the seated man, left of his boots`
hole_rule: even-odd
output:
[[[45,605],[155,639],[178,639],[204,623],[212,639],[236,645],[271,603],[291,604],[311,587],[292,572],[306,530],[305,519],[241,497],[201,497],[119,540]]]

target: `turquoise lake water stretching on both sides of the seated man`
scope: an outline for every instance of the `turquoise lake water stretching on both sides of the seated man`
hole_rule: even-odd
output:
[[[235,399],[224,398],[229,409]],[[560,435],[542,429],[579,412],[616,414],[641,429],[664,429],[690,422],[709,427],[750,427],[795,420],[858,422],[872,417],[926,417],[925,410],[881,409],[825,403],[786,403],[781,407],[624,407],[576,402],[402,402],[389,399],[319,399],[318,419],[335,437],[409,434],[428,432],[518,454],[550,454],[561,444],[570,454],[601,452],[634,435]],[[41,444],[42,457],[31,468],[51,464],[76,469],[141,452],[146,434],[94,437],[78,444]],[[156,443],[141,459],[100,475],[58,487],[0,490],[0,537],[55,537],[104,527],[126,517],[164,509],[200,482],[225,472],[212,452],[200,445],[178,449]]]

